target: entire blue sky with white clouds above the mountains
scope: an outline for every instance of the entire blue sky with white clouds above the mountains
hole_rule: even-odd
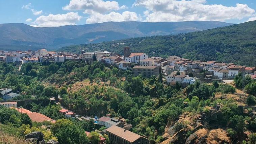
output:
[[[211,20],[256,20],[256,0],[0,0],[0,23],[34,27]]]

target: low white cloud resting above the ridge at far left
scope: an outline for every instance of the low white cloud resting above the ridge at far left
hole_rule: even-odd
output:
[[[78,12],[68,12],[66,14],[40,16],[32,23],[34,27],[58,27],[64,25],[75,25],[82,17]]]

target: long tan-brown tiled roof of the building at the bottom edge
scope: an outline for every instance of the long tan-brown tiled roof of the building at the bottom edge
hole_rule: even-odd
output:
[[[116,136],[119,136],[119,137],[121,137],[121,138],[123,138],[123,139],[125,139],[125,140],[127,140],[131,143],[133,143],[134,141],[136,141],[137,139],[142,137],[140,135],[137,135],[133,132],[130,132],[128,130],[125,130],[125,129],[123,129],[121,127],[118,127],[118,126],[115,126],[115,125],[107,128],[106,131],[110,132],[110,133],[112,133]],[[147,139],[147,138],[145,138],[145,139]]]

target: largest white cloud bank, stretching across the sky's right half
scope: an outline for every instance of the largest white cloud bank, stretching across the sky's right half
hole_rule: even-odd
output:
[[[225,21],[251,17],[255,10],[246,4],[208,5],[206,0],[136,0],[133,6],[144,6],[147,22],[162,21]]]

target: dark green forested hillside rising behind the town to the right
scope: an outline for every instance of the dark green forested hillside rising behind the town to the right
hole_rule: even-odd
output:
[[[125,45],[118,45],[125,43]],[[193,60],[217,60],[238,65],[256,65],[256,21],[234,24],[178,35],[150,36],[63,47],[60,51],[107,50],[123,54],[124,46],[132,52],[150,56],[178,55]]]

